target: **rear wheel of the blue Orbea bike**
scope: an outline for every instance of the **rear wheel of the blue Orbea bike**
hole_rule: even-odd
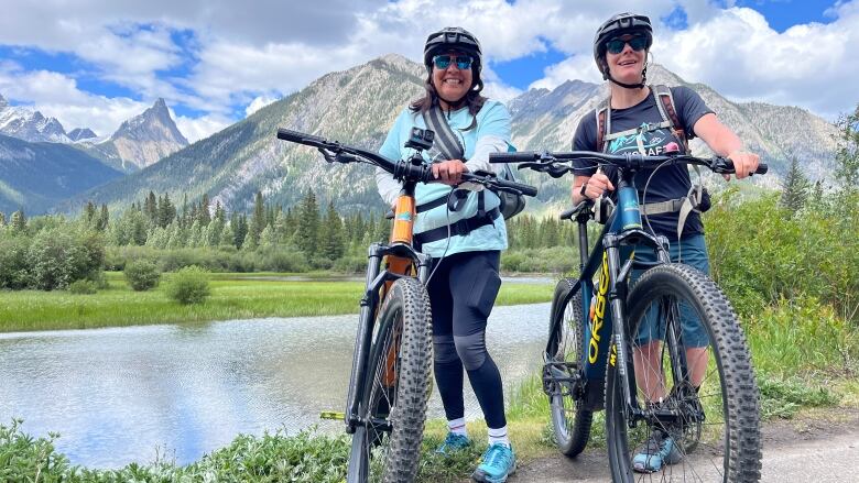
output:
[[[552,300],[553,320],[550,330],[552,343],[546,353],[544,387],[548,394],[552,415],[552,429],[555,442],[562,453],[575,457],[585,450],[590,438],[590,425],[594,411],[585,408],[581,391],[581,356],[584,348],[584,320],[581,290],[572,292],[576,281],[562,278],[555,287]],[[555,319],[561,320],[555,320]],[[573,381],[558,383],[554,377],[568,377]]]

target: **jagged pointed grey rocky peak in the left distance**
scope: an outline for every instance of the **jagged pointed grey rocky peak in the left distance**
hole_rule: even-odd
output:
[[[164,99],[124,121],[108,140],[81,144],[87,153],[124,173],[151,166],[187,145],[188,141],[176,128]]]

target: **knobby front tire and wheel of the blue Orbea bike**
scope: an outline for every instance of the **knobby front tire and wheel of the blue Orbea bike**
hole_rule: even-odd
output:
[[[639,421],[635,429],[630,429],[618,371],[609,365],[606,380],[606,432],[612,480],[759,481],[761,436],[758,386],[746,337],[721,290],[707,275],[688,265],[665,264],[641,276],[629,294],[627,307],[630,347],[634,344],[639,325],[646,314],[655,311],[660,319],[664,316],[665,342],[649,345],[660,347],[656,351],[660,366],[655,370],[660,371],[664,398],[657,405],[650,403],[651,406],[646,406],[642,389],[637,389],[633,376],[630,376],[630,385],[637,391],[642,407],[667,408],[677,418],[671,422],[653,422],[653,419],[650,422]],[[709,353],[704,352],[709,358],[708,364],[702,371],[704,377],[697,388],[691,382],[693,376],[686,373],[684,377],[682,369],[683,364],[686,364],[685,367],[691,366],[686,360],[688,352],[678,350],[685,337],[679,328],[679,312],[689,309],[697,312],[709,338],[706,348]],[[662,330],[662,327],[657,330]],[[645,345],[642,343],[641,348]],[[642,367],[640,377],[649,373],[643,370],[646,356],[642,353],[639,354]],[[627,367],[628,373],[633,374],[635,364],[631,349],[627,354]],[[668,381],[672,384],[670,389]],[[681,459],[676,464],[663,465],[657,472],[633,473],[631,459],[635,449],[631,439],[638,437],[642,443],[653,428],[660,429],[660,435],[667,433],[674,438],[678,451],[676,454]]]

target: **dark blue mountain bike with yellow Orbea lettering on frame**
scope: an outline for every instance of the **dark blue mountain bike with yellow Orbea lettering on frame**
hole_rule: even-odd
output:
[[[717,285],[692,266],[671,263],[667,239],[645,229],[633,184],[644,168],[683,163],[728,174],[732,163],[678,154],[490,155],[491,163],[520,163],[553,177],[576,173],[574,160],[616,166],[619,183],[613,210],[602,198],[561,215],[578,223],[580,275],[555,288],[544,353],[543,391],[558,449],[568,457],[580,453],[595,413],[605,407],[615,482],[758,481],[759,393],[743,332]],[[765,172],[762,164],[758,173]],[[605,227],[588,252],[587,224],[595,217]],[[635,260],[634,250],[645,249],[655,251],[655,262]],[[644,272],[628,289],[633,270]],[[683,322],[694,318],[709,341],[703,349],[684,340],[692,338]],[[634,473],[633,452],[651,437],[665,448],[671,437],[681,459],[659,472]]]

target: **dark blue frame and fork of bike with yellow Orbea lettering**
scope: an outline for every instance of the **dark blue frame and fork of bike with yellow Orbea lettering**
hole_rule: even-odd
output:
[[[632,364],[628,361],[629,343],[626,322],[627,292],[629,277],[634,264],[635,245],[646,245],[656,251],[659,262],[668,263],[667,240],[657,238],[642,229],[641,211],[638,191],[632,183],[634,169],[619,169],[620,182],[618,184],[618,206],[606,222],[602,232],[591,252],[588,252],[587,223],[592,217],[591,204],[581,204],[572,213],[578,223],[579,268],[580,275],[570,293],[581,290],[581,314],[587,320],[584,323],[584,338],[581,347],[581,366],[579,371],[584,381],[575,381],[558,367],[547,367],[551,382],[572,385],[584,383],[584,402],[590,409],[601,409],[605,397],[606,364],[618,366],[618,373],[623,381],[623,397],[627,400],[628,410],[633,419],[643,418],[644,415],[635,398],[635,377]],[[648,265],[652,266],[652,265]],[[599,284],[594,286],[594,277],[599,273]],[[591,314],[592,317],[587,315]],[[564,307],[556,307],[563,310]],[[608,312],[608,314],[607,314]],[[610,316],[610,326],[605,323]],[[554,318],[559,323],[562,318]],[[558,327],[550,330],[550,340],[546,343],[546,354],[557,343],[556,338],[561,333]],[[612,343],[613,342],[613,343]],[[685,356],[681,354],[683,365]],[[548,358],[546,358],[548,359]],[[557,363],[550,363],[553,365]],[[686,371],[686,367],[681,367]]]

